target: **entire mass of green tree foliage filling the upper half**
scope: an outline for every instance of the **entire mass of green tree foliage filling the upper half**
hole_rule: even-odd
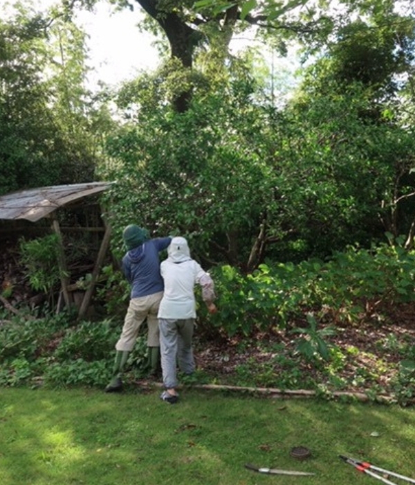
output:
[[[71,17],[81,3],[95,4],[2,24],[4,39],[17,35],[0,65],[3,190],[99,174],[116,181],[109,197],[118,233],[139,214],[154,233],[187,235],[208,263],[248,272],[267,258],[370,245],[385,231],[411,244],[412,11],[375,0],[340,2],[340,10],[311,1],[139,1],[172,59],[100,93],[97,104],[82,84],[84,33]],[[273,52],[295,39],[308,56],[288,101],[275,82],[282,73],[267,62],[259,69],[249,50],[228,51],[232,35],[253,24]],[[167,35],[173,25],[191,42]]]

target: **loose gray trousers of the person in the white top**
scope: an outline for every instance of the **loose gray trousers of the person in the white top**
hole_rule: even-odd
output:
[[[194,372],[192,337],[194,318],[158,319],[160,328],[161,368],[166,389],[177,387],[178,368],[186,373]]]

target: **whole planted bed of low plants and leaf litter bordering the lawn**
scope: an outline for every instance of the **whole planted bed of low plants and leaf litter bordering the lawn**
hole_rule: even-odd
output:
[[[264,265],[248,277],[229,266],[216,270],[219,313],[210,317],[199,308],[197,370],[182,376],[182,385],[356,394],[412,405],[414,257],[399,247],[350,249],[328,263]],[[16,302],[1,297],[9,303],[0,326],[1,384],[104,387],[125,305],[120,294],[103,294],[101,312],[86,321],[44,310],[35,318],[24,302],[17,311]],[[129,357],[131,386],[158,382],[146,380],[145,331]]]

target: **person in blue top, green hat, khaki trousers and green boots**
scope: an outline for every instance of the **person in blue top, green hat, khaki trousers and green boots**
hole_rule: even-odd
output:
[[[106,392],[122,391],[122,371],[136,344],[138,330],[146,319],[150,373],[156,372],[160,360],[157,314],[164,283],[160,274],[159,253],[169,246],[172,238],[150,239],[147,229],[135,224],[125,227],[122,238],[127,248],[122,258],[122,272],[131,285],[131,293],[122,333],[116,344],[113,378],[105,388]]]

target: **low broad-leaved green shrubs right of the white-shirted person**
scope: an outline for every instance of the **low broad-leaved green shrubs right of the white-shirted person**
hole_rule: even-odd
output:
[[[219,312],[207,319],[203,310],[201,325],[229,336],[287,328],[310,311],[333,324],[356,324],[378,309],[415,299],[415,253],[400,246],[349,247],[326,262],[262,264],[248,275],[222,266],[212,276]]]

